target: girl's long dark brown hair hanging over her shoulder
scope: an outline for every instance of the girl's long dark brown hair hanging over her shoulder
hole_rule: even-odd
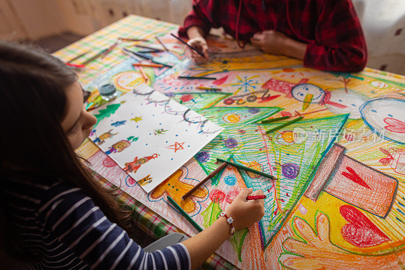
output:
[[[109,220],[131,233],[130,212],[114,200],[116,190],[95,181],[60,125],[66,114],[66,87],[76,79],[57,58],[0,40],[0,185],[7,185],[5,174],[22,172],[69,181],[82,188]],[[21,258],[27,254],[18,244],[5,203],[0,200],[1,244]]]

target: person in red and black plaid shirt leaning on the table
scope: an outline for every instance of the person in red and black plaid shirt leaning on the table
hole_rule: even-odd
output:
[[[304,61],[305,67],[356,72],[367,63],[367,47],[350,0],[193,0],[179,35],[203,51],[187,48],[196,63],[208,59],[204,36],[223,27],[240,47],[248,41],[265,53]]]

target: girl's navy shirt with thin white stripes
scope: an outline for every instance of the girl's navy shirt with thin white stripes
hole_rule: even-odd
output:
[[[67,182],[8,177],[0,196],[34,269],[190,269],[183,244],[145,252],[85,192]]]

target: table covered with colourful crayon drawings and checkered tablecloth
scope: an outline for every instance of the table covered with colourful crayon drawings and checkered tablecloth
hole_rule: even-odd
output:
[[[164,108],[164,113],[170,111],[170,100],[180,103],[183,109],[176,113],[182,114],[182,121],[188,121],[190,129],[199,127],[195,140],[213,131],[204,129],[207,121],[223,128],[193,158],[173,165],[174,173],[149,190],[142,186],[153,183],[152,179],[137,178],[142,166],[158,170],[163,166],[160,159],[170,167],[170,158],[192,148],[193,141],[176,137],[177,124],[145,125],[136,113],[114,118],[101,133],[95,127],[92,140],[78,151],[91,162],[104,186],[120,186],[120,200],[135,209],[138,224],[156,237],[179,230],[193,236],[197,231],[168,202],[168,196],[207,228],[240,189],[252,187],[266,195],[264,217],[226,241],[208,260],[211,266],[400,269],[405,263],[405,78],[369,68],[359,73],[322,72],[303,67],[300,60],[265,55],[253,47],[241,50],[234,41],[214,36],[208,38],[210,61],[195,65],[170,35],[176,29],[174,24],[129,16],[54,54],[69,61],[90,51],[73,61],[80,64],[118,37],[150,40],[123,41],[79,73],[84,88],[93,91],[89,106],[102,103],[95,84],[101,70],[111,76],[121,95],[94,110],[98,120],[105,125],[105,119],[126,104],[120,99],[145,94],[137,92],[139,87],[150,86],[159,98],[144,96],[139,102]],[[148,55],[173,67],[144,67],[145,80],[145,74],[132,65],[140,60],[121,49],[142,49],[136,44],[163,49],[155,34],[169,51]],[[204,90],[210,88],[216,90]],[[205,120],[187,117],[188,110]],[[262,123],[282,116],[288,119]],[[301,116],[300,121],[275,128]],[[128,128],[131,134],[123,131]],[[146,147],[150,153],[137,155],[129,147],[156,138],[166,142],[165,154]],[[113,145],[123,140],[128,141],[128,149],[122,153],[129,154],[128,161],[120,163]],[[220,165],[217,158],[276,179],[227,166],[182,201],[182,195]]]

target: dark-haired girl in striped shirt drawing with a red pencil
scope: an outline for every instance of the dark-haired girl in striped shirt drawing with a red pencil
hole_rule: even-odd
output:
[[[0,243],[34,269],[194,269],[264,214],[264,201],[247,201],[253,190],[244,189],[203,232],[145,252],[128,236],[132,218],[115,191],[74,152],[96,123],[75,73],[51,55],[0,41],[0,95]]]

